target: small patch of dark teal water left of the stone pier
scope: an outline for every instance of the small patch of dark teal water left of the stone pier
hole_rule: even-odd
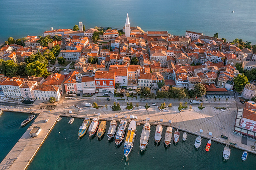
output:
[[[28,118],[27,113],[3,112],[0,115],[0,162],[25,133],[33,120],[24,127],[21,123]]]

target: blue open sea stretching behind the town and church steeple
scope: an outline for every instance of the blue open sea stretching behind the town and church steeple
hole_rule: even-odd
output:
[[[255,7],[256,1],[249,0],[0,1],[0,43],[8,37],[40,36],[51,27],[72,29],[78,22],[86,28],[123,28],[128,13],[131,27],[144,31],[218,33],[227,41],[239,38],[256,44]]]

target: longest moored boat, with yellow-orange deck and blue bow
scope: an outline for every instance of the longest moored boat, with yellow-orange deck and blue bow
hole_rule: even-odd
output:
[[[127,157],[132,150],[135,138],[136,121],[132,120],[128,126],[127,136],[124,142],[124,155]]]

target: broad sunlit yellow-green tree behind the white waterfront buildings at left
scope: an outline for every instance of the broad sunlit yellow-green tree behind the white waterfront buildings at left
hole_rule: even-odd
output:
[[[48,76],[49,73],[47,72],[45,64],[39,62],[39,61],[34,61],[32,63],[29,63],[26,66],[26,74],[29,76],[35,75],[36,77],[41,77],[41,76]]]

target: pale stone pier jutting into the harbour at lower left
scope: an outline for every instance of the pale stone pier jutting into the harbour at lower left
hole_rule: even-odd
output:
[[[6,111],[13,111],[13,109]],[[16,109],[16,111],[18,110]],[[23,111],[20,110],[19,112]],[[30,113],[28,110],[25,112]],[[49,111],[42,111],[8,153],[5,159],[0,163],[0,169],[26,169],[47,138],[49,132],[54,127],[58,117],[59,115],[51,114]],[[47,123],[44,122],[46,118],[49,119]],[[29,134],[34,126],[42,128],[42,131],[37,137],[31,137]]]

